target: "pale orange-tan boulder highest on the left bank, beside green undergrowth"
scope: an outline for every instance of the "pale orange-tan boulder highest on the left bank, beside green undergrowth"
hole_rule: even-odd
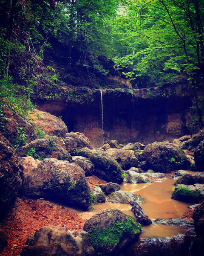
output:
[[[45,134],[64,137],[67,133],[67,126],[62,119],[57,116],[53,116],[50,113],[34,109],[28,115],[28,119],[44,131]]]

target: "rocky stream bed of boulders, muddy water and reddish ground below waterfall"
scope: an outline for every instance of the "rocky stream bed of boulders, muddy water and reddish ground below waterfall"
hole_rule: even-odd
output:
[[[84,134],[68,133],[60,118],[35,110],[32,122],[45,137],[37,139],[18,117],[29,143],[14,151],[9,140],[17,118],[6,111],[8,133],[0,134],[2,256],[202,255],[203,130],[171,143],[108,140],[93,148]],[[125,213],[117,209],[124,206]]]

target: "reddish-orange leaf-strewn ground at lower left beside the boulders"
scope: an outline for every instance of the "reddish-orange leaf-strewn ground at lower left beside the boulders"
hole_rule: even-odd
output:
[[[81,230],[85,221],[77,213],[49,201],[17,198],[14,208],[3,221],[8,245],[0,255],[20,256],[28,236],[42,226],[61,225],[68,230]]]

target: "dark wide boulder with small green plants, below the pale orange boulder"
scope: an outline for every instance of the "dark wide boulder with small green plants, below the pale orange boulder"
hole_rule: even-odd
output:
[[[65,148],[65,143],[57,136],[48,136],[43,139],[33,140],[31,143],[18,148],[17,154],[20,157],[31,157],[43,160],[53,157],[58,160],[71,161],[71,155]]]

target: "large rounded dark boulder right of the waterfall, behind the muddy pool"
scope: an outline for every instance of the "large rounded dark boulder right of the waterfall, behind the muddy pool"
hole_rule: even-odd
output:
[[[142,157],[155,172],[166,173],[176,169],[189,169],[191,165],[184,151],[167,142],[146,145]]]

